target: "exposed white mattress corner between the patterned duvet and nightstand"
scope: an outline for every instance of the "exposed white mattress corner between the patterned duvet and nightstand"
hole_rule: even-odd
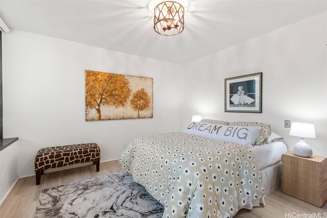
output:
[[[274,141],[262,146],[249,148],[259,170],[281,161],[282,155],[287,152],[283,141]]]

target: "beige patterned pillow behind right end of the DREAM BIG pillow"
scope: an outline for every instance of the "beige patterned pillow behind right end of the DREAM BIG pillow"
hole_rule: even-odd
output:
[[[256,146],[261,146],[267,143],[268,137],[271,135],[270,124],[256,123],[256,122],[233,122],[229,123],[229,126],[246,126],[246,127],[260,127],[261,130],[256,136],[254,144]]]

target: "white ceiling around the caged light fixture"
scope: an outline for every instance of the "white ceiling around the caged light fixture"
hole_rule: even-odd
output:
[[[9,28],[184,64],[327,10],[327,1],[193,0],[176,36],[153,30],[149,1],[4,1]]]

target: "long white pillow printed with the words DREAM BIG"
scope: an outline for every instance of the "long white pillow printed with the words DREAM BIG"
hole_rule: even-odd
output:
[[[193,122],[185,133],[212,138],[222,141],[230,141],[238,144],[250,146],[254,144],[261,127],[247,126],[226,126],[220,124],[208,124]]]

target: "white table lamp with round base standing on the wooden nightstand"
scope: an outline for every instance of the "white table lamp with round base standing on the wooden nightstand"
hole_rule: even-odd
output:
[[[293,147],[294,154],[300,157],[310,157],[312,155],[312,149],[303,138],[316,138],[315,125],[293,122],[290,135],[300,137],[300,141]]]

